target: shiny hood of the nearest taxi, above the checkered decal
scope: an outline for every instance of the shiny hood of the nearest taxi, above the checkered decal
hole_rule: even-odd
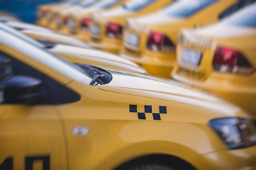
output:
[[[165,101],[176,101],[192,106],[210,109],[232,116],[240,108],[199,89],[179,84],[169,79],[160,79],[142,74],[111,71],[112,81],[99,85],[98,89],[119,94],[157,98]]]

